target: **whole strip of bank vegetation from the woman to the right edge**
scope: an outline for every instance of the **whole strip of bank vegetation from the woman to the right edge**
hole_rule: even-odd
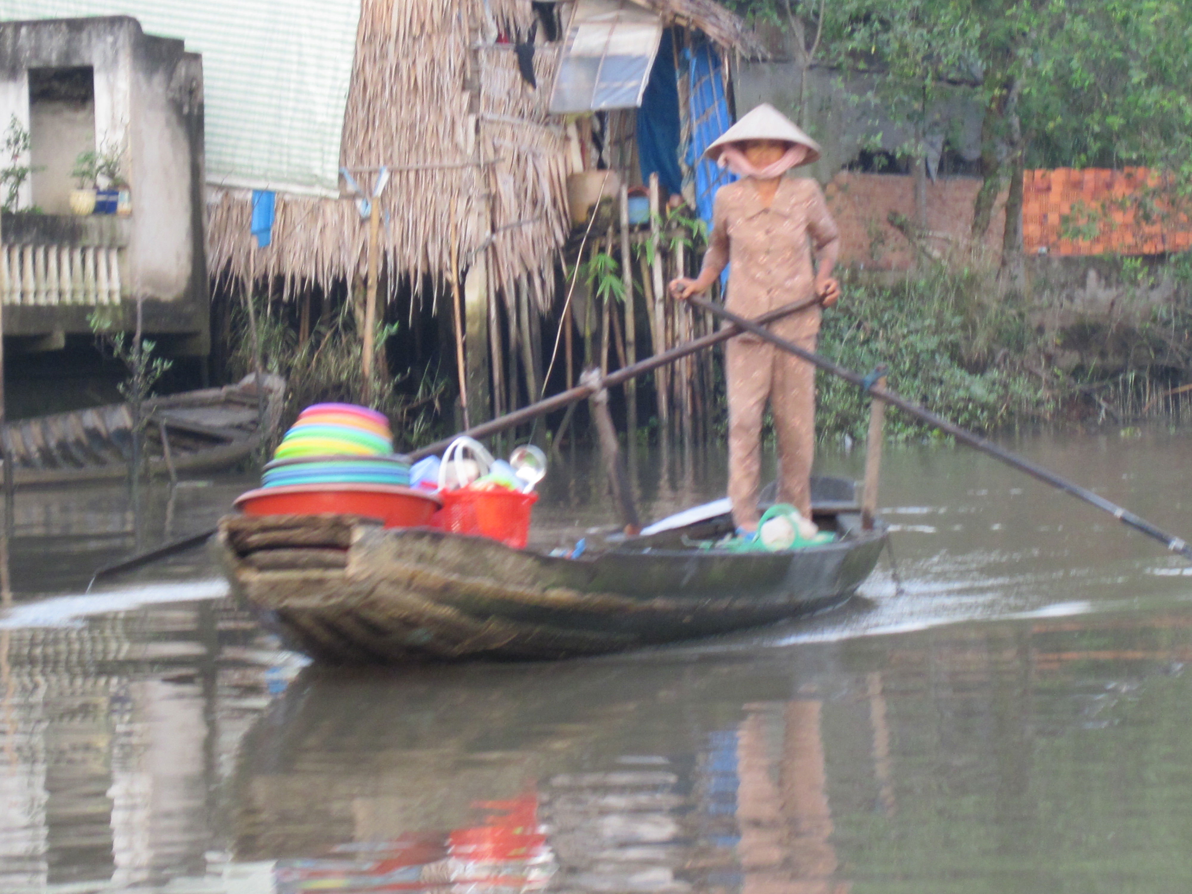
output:
[[[993,267],[936,262],[882,283],[842,274],[844,298],[824,315],[820,352],[859,372],[889,367],[904,397],[981,433],[1038,422],[1192,418],[1192,255],[1144,268],[1117,259],[1123,304],[1168,287],[1132,316],[1044,324],[1053,308],[1005,288]],[[869,401],[821,374],[821,437],[864,437]],[[892,414],[894,439],[929,434]]]

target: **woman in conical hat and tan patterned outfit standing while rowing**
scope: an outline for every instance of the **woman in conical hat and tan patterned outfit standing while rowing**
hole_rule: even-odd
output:
[[[694,280],[673,280],[671,294],[687,299],[707,291],[731,263],[725,305],[743,317],[755,318],[812,296],[825,308],[836,304],[840,286],[832,279],[832,267],[839,235],[824,193],[814,180],[783,176],[819,159],[815,141],[763,104],[725,131],[706,155],[743,179],[716,193],[703,268]],[[815,305],[771,323],[770,330],[814,350],[819,325]],[[737,527],[745,533],[757,529],[762,416],[768,398],[778,435],[778,499],[809,519],[815,368],[752,335],[727,343],[725,368],[728,497]]]

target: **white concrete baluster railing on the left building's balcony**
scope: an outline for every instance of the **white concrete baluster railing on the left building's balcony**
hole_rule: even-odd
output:
[[[4,224],[5,304],[110,305],[129,294],[128,221],[6,215]]]

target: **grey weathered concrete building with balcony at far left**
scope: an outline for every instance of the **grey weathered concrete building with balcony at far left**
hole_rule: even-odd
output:
[[[32,168],[0,252],[4,333],[13,347],[54,349],[112,324],[172,354],[210,344],[204,243],[203,61],[182,41],[145,35],[128,17],[0,23],[0,130]],[[74,216],[80,153],[118,155],[128,213]]]

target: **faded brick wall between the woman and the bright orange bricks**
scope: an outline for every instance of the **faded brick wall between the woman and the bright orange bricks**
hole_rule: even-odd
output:
[[[939,178],[927,184],[929,244],[948,254],[964,247],[973,226],[976,178]],[[896,211],[914,219],[914,179],[904,174],[857,174],[842,170],[824,191],[840,228],[840,263],[865,269],[905,271],[914,260],[906,237],[889,225]],[[994,206],[985,244],[993,262],[1000,256],[1005,228],[1005,194]]]

